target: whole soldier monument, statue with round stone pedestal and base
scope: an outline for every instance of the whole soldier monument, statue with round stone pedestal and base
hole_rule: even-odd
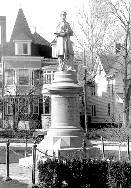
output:
[[[66,21],[66,12],[61,13],[55,35],[58,56],[58,71],[48,87],[51,95],[51,126],[44,140],[37,146],[52,155],[61,149],[81,148],[83,130],[80,127],[79,94],[82,87],[77,82],[73,69],[73,47],[70,36],[73,31]]]

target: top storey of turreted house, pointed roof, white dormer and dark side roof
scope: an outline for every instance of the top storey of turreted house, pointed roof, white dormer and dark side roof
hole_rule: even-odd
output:
[[[25,46],[25,51],[27,52],[18,53],[18,46],[19,49],[21,49],[21,46]],[[5,43],[4,45],[4,55],[30,55],[41,56],[45,58],[52,57],[52,49],[50,43],[42,36],[40,36],[37,32],[35,32],[34,34],[31,33],[22,9],[19,9],[18,11],[10,42]]]

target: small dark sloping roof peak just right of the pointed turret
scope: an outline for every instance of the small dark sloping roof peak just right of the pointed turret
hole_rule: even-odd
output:
[[[33,39],[35,44],[50,46],[50,43],[47,40],[45,40],[42,36],[40,36],[37,32],[33,34]]]

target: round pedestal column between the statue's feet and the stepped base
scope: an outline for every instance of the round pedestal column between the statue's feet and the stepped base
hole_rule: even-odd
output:
[[[70,147],[72,144],[69,140],[82,136],[79,112],[79,93],[82,88],[77,83],[76,72],[56,72],[54,81],[48,89],[51,94],[51,127],[47,136],[68,140],[67,146]]]

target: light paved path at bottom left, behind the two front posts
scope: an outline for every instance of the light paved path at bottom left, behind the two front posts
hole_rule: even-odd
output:
[[[6,165],[0,164],[0,177],[6,177]],[[19,182],[28,184],[30,188],[32,185],[32,169],[21,167],[18,163],[10,164],[10,178],[18,180]],[[36,171],[36,183],[38,182],[38,172]],[[0,187],[1,188],[1,187]]]

